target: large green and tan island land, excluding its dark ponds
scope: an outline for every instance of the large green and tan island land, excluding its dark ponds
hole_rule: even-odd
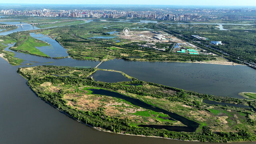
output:
[[[202,142],[256,140],[256,112],[251,108],[210,105],[202,99],[255,106],[256,102],[212,96],[163,86],[132,78],[129,82],[95,82],[88,78],[95,68],[36,66],[19,68],[28,85],[43,100],[72,118],[111,132],[144,136],[161,136]],[[129,84],[140,84],[132,86]],[[147,110],[110,96],[92,94],[90,89],[118,92],[158,108],[174,112],[200,124],[196,132],[173,132],[140,127],[146,125],[184,126],[169,120],[166,114]]]

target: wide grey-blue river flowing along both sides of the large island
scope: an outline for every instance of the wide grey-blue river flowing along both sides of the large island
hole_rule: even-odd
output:
[[[18,52],[15,54],[25,60],[23,64],[33,64],[29,66],[94,67],[99,64],[71,58],[55,60]],[[0,58],[1,144],[206,144],[113,134],[85,126],[36,97],[26,85],[26,80],[16,72],[18,67],[20,66],[11,66]],[[238,92],[256,92],[256,71],[247,66],[110,60],[103,62],[99,68],[120,70],[139,80],[220,96],[239,97]]]

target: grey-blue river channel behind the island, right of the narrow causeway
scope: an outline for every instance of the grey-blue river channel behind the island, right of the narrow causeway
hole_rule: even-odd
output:
[[[239,92],[256,92],[256,71],[248,66],[109,60],[98,68],[118,70],[138,80],[218,96],[243,98]]]

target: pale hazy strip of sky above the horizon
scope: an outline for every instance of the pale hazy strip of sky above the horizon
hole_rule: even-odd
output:
[[[147,4],[194,6],[256,6],[256,0],[0,0],[12,4]]]

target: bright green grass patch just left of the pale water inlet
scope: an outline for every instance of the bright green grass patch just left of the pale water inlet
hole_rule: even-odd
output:
[[[24,36],[24,37],[26,37],[26,36]],[[41,46],[50,46],[50,45],[47,44],[46,42],[42,42],[40,40],[32,38],[31,36],[27,36],[22,44],[20,44],[17,47],[12,48],[12,50],[14,49],[16,51],[26,52],[26,53],[34,54],[34,55],[38,55],[38,56],[47,56],[46,54],[44,54],[43,52],[41,52],[40,50],[38,50],[36,48],[36,47],[41,47]]]

